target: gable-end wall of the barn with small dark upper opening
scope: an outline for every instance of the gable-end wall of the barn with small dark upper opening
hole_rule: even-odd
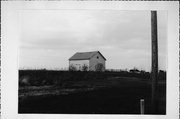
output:
[[[97,58],[97,57],[99,57],[99,58]],[[97,53],[96,55],[94,55],[91,59],[90,59],[90,66],[89,66],[89,69],[91,70],[91,71],[95,71],[96,70],[96,68],[95,68],[95,66],[98,64],[98,63],[102,63],[103,64],[103,71],[105,70],[105,60],[104,60],[104,58],[99,54],[99,53]]]

